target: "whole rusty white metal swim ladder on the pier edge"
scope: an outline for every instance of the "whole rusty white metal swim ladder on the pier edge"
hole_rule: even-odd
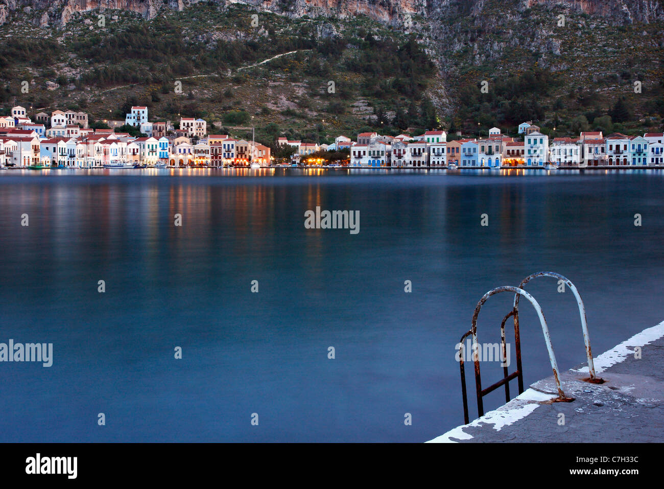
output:
[[[519,394],[523,393],[523,369],[521,366],[521,336],[519,334],[519,298],[521,296],[524,296],[531,304],[533,304],[535,312],[537,312],[537,316],[539,316],[540,324],[542,326],[542,333],[544,334],[544,343],[546,343],[548,358],[551,363],[551,369],[553,370],[553,376],[556,381],[556,387],[558,390],[558,397],[556,397],[556,399],[553,399],[553,401],[554,402],[574,401],[573,398],[566,397],[565,393],[562,391],[562,387],[560,387],[560,379],[558,377],[558,363],[556,362],[556,355],[553,352],[553,347],[551,345],[551,338],[550,335],[548,334],[548,326],[546,326],[546,319],[544,318],[544,313],[542,312],[542,308],[540,308],[540,305],[538,304],[537,300],[535,300],[535,298],[533,298],[531,294],[523,290],[525,284],[527,284],[533,278],[540,276],[548,276],[548,277],[558,278],[558,280],[563,280],[564,283],[572,291],[572,294],[574,294],[574,297],[576,298],[576,302],[578,304],[579,314],[581,317],[581,328],[584,336],[584,343],[586,345],[586,357],[588,358],[588,371],[590,372],[590,378],[587,380],[592,383],[603,382],[602,379],[598,379],[596,377],[595,367],[592,361],[592,352],[590,350],[590,336],[588,334],[588,324],[586,323],[586,308],[584,307],[583,300],[581,299],[578,290],[576,290],[576,286],[574,286],[574,284],[572,284],[572,282],[568,278],[556,272],[537,272],[521,280],[521,284],[519,284],[519,287],[502,286],[489,290],[489,292],[484,294],[482,298],[479,300],[479,302],[477,302],[477,306],[475,306],[475,311],[473,312],[473,320],[471,323],[471,329],[467,331],[465,334],[463,334],[463,336],[461,336],[461,340],[459,341],[459,369],[461,371],[461,395],[463,396],[463,419],[466,425],[469,423],[469,418],[468,418],[467,391],[465,387],[465,369],[463,366],[463,357],[465,354],[465,351],[463,349],[463,340],[465,340],[468,336],[473,337],[472,349],[473,349],[473,363],[475,365],[475,393],[477,395],[477,412],[479,414],[479,417],[484,415],[484,406],[482,403],[482,398],[488,393],[495,391],[495,389],[497,389],[498,387],[501,387],[501,385],[505,385],[505,402],[509,402],[510,400],[509,381],[511,381],[512,379],[516,378],[518,380]],[[510,317],[512,317],[514,319],[514,339],[515,339],[515,349],[517,355],[517,369],[512,373],[509,373],[507,365],[503,365],[503,374],[504,374],[503,379],[497,381],[496,383],[493,383],[492,385],[486,387],[485,389],[482,389],[481,375],[479,370],[479,357],[477,355],[477,348],[479,346],[479,343],[477,343],[477,316],[479,316],[479,310],[482,308],[483,304],[487,302],[489,297],[495,294],[499,294],[500,292],[514,292],[515,294],[513,308],[509,313],[507,313],[507,315],[505,316],[505,318],[503,318],[503,321],[501,322],[501,353],[503,355],[503,360],[504,360],[507,355],[507,343],[505,342],[505,322],[507,322],[507,320]]]

